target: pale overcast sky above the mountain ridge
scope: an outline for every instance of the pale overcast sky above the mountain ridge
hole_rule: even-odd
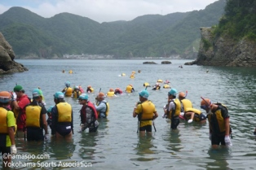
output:
[[[0,14],[24,7],[45,18],[61,12],[81,15],[99,23],[133,20],[148,14],[167,15],[205,9],[218,0],[0,0]]]

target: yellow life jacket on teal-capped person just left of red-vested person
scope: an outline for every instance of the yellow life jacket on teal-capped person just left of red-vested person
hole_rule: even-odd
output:
[[[58,110],[58,122],[72,121],[72,107],[68,102],[60,102],[56,107]]]

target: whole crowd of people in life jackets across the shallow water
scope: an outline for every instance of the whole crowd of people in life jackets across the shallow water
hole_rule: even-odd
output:
[[[159,84],[158,84],[159,85]],[[24,94],[21,85],[15,85],[13,92],[0,92],[0,148],[2,154],[17,153],[15,147],[15,133],[24,132],[24,140],[43,141],[49,138],[48,126],[51,136],[56,139],[72,139],[73,137],[73,108],[65,102],[65,97],[77,98],[82,105],[80,110],[81,124],[78,132],[89,129],[89,133],[97,132],[99,118],[108,116],[109,105],[105,97],[123,94],[120,88],[110,88],[107,94],[100,92],[96,96],[96,103],[88,100],[88,94],[94,89],[88,85],[84,91],[81,85],[70,87],[70,82],[65,82],[65,88],[54,94],[55,106],[45,107],[44,97],[40,88],[33,89],[33,98]],[[133,85],[126,86],[126,93],[134,93]],[[86,94],[87,93],[87,94]],[[222,103],[213,103],[209,98],[201,98],[201,109],[205,114],[192,106],[186,98],[187,93],[170,89],[167,104],[163,107],[164,119],[170,120],[170,129],[178,129],[180,121],[188,123],[205,123],[209,121],[209,138],[213,147],[232,146],[232,129],[229,124],[227,107]],[[152,127],[156,130],[154,120],[158,113],[155,105],[148,99],[146,89],[139,92],[139,102],[136,102],[132,116],[138,118],[138,132],[140,135],[151,135]],[[46,114],[48,116],[46,120]],[[256,132],[256,129],[255,129]],[[11,159],[2,159],[11,162]]]

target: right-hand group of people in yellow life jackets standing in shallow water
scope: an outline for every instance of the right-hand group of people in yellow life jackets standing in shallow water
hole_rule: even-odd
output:
[[[163,107],[163,118],[170,120],[170,129],[177,129],[181,120],[188,123],[204,123],[209,121],[209,138],[213,148],[221,146],[232,146],[232,129],[229,124],[229,115],[227,107],[222,103],[213,103],[209,98],[201,98],[201,109],[205,110],[203,114],[200,110],[192,107],[192,102],[186,98],[186,94],[176,89],[170,89],[168,92],[167,104]],[[139,102],[136,103],[133,116],[138,117],[138,130],[140,135],[151,135],[152,125],[156,127],[153,121],[157,119],[158,113],[155,105],[148,100],[148,90],[139,92]]]

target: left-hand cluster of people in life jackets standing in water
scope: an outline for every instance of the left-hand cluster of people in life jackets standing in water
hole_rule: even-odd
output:
[[[70,90],[70,83],[65,83],[63,91],[54,94],[55,106],[46,109],[42,90],[33,89],[32,98],[25,94],[21,85],[15,85],[13,92],[0,92],[0,151],[2,155],[16,154],[15,134],[24,133],[24,140],[44,141],[49,139],[48,126],[51,137],[70,140],[73,137],[73,108],[65,102],[65,97],[76,96],[79,104],[81,124],[78,132],[89,129],[89,133],[97,131],[98,118],[108,116],[109,105],[105,101],[105,94],[99,92],[96,103],[88,100],[88,94],[82,93],[81,88]],[[88,86],[88,90],[93,91]],[[89,91],[87,91],[90,93]],[[46,115],[48,116],[46,120]],[[2,157],[3,165],[10,165],[11,157]]]

